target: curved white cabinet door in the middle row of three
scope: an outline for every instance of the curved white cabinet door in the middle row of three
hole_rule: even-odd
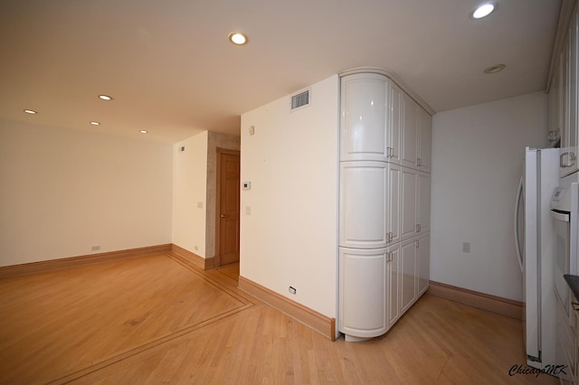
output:
[[[386,247],[387,165],[384,162],[340,163],[340,246]]]

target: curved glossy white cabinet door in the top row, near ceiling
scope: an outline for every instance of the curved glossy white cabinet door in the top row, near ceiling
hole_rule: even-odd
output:
[[[359,73],[341,80],[340,160],[386,162],[390,80]]]

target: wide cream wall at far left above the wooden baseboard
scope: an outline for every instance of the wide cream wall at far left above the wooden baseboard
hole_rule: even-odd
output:
[[[0,266],[171,243],[171,179],[171,145],[0,121]]]

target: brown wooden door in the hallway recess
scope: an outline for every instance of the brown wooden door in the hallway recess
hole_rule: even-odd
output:
[[[239,261],[240,156],[219,156],[219,265],[227,265]]]

